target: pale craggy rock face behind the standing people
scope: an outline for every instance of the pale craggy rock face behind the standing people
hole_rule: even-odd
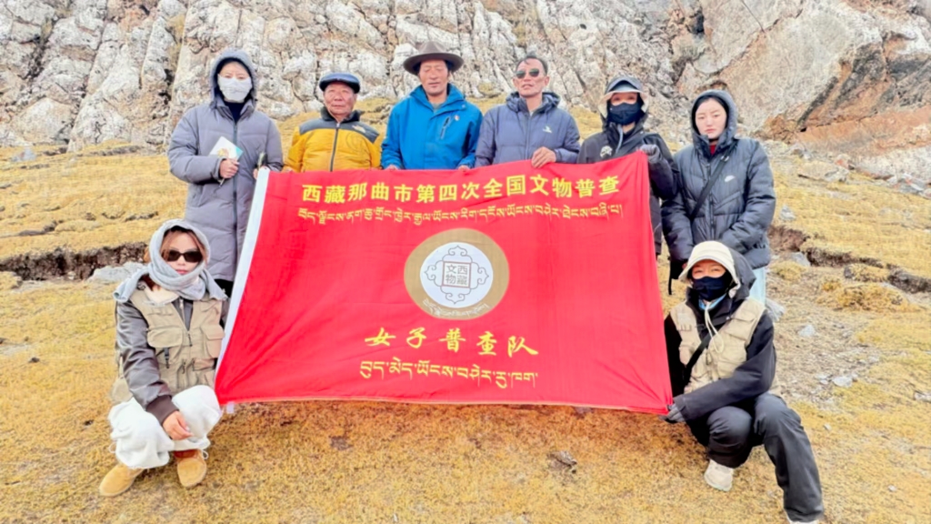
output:
[[[514,62],[535,51],[569,104],[593,109],[611,76],[634,74],[654,95],[654,125],[687,136],[689,99],[725,87],[745,131],[895,171],[931,159],[929,4],[0,0],[0,145],[164,145],[227,47],[256,62],[272,117],[316,109],[317,78],[338,69],[362,78],[364,96],[395,100],[416,86],[400,62],[434,39],[466,59],[455,83],[473,98],[509,91]]]

